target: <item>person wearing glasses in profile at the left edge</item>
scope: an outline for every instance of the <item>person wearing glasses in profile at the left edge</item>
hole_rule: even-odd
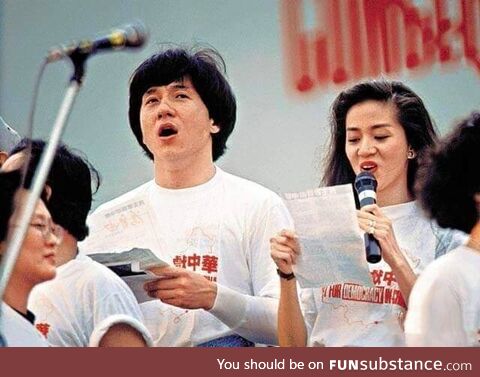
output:
[[[0,172],[0,259],[7,250],[9,234],[19,225],[19,207],[26,200],[26,190],[20,188],[20,183],[18,170]],[[27,309],[27,303],[37,284],[55,277],[61,238],[61,228],[53,224],[39,199],[1,302],[0,333],[8,347],[48,347],[34,327],[35,315]]]

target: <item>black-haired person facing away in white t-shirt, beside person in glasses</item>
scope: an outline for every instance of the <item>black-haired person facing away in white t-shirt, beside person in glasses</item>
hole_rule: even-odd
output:
[[[38,166],[45,143],[31,141],[29,175]],[[29,141],[22,140],[3,168],[22,166]],[[61,144],[55,154],[46,188],[53,221],[64,230],[58,246],[54,280],[37,286],[29,300],[35,324],[53,346],[145,346],[150,336],[140,307],[128,286],[112,271],[78,254],[77,244],[88,234],[86,219],[92,205],[95,168]]]

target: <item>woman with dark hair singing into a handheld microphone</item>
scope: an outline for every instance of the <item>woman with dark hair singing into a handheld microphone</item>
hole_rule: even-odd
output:
[[[371,294],[361,301],[333,293],[338,284],[342,292],[353,284],[345,281],[338,282],[336,290],[328,286],[303,290],[300,306],[296,279],[281,279],[281,345],[404,344],[405,303],[417,274],[464,241],[461,233],[441,230],[426,219],[415,201],[418,159],[435,140],[422,100],[400,82],[362,82],[338,95],[332,106],[323,183],[353,183],[362,171],[375,176],[378,204],[364,206],[357,217],[360,229],[379,242],[382,261],[369,264],[375,287],[364,287]],[[284,230],[271,240],[272,258],[285,274],[292,273],[299,252],[292,231]]]

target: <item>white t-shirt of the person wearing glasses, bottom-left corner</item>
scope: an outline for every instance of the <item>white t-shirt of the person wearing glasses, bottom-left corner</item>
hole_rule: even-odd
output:
[[[3,301],[1,325],[0,333],[7,347],[48,347],[35,326]]]

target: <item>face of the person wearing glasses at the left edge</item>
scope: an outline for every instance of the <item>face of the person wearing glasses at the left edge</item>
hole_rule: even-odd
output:
[[[15,203],[25,200],[25,193],[16,195]],[[10,227],[18,226],[18,211],[10,219]],[[55,255],[59,240],[51,233],[52,219],[42,200],[30,220],[20,254],[12,271],[12,277],[18,277],[32,287],[55,277]],[[45,229],[48,229],[46,231]],[[5,250],[6,245],[2,245]]]

